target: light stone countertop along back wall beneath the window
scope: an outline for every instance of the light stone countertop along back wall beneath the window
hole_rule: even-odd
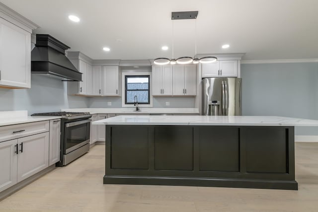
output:
[[[136,108],[68,108],[61,109],[66,112],[89,112],[90,114],[198,114],[198,108],[140,108],[141,111],[134,111]]]

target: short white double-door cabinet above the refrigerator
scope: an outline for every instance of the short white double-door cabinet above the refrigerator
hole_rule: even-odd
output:
[[[202,64],[202,77],[237,77],[238,60]]]

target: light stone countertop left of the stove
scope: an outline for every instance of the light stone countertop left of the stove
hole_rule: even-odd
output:
[[[30,122],[41,122],[53,119],[61,119],[61,116],[28,116],[26,110],[0,111],[0,126],[17,125]]]

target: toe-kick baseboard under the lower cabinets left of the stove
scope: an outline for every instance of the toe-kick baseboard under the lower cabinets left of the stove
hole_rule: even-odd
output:
[[[39,179],[40,177],[46,175],[47,173],[56,169],[55,164],[43,169],[42,171],[32,175],[31,177],[11,186],[10,188],[5,189],[4,191],[0,192],[0,201],[7,198],[8,196],[12,195],[13,193],[17,192],[18,190],[22,189],[23,187],[29,185],[30,183],[34,182],[35,180]]]

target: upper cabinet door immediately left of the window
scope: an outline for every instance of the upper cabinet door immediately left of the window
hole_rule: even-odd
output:
[[[118,96],[118,67],[103,67],[103,96]]]

